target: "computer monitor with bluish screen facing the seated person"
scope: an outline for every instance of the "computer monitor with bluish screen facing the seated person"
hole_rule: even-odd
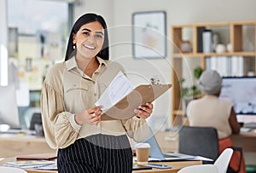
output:
[[[223,78],[219,99],[234,103],[239,122],[256,123],[256,77]]]

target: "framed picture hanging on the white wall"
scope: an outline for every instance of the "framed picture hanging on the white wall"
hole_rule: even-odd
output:
[[[135,58],[166,57],[166,12],[132,14],[132,51]]]

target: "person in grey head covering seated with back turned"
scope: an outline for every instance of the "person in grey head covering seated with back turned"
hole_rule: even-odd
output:
[[[218,99],[221,91],[222,78],[216,71],[205,71],[199,78],[199,88],[204,95],[202,98],[190,101],[187,107],[190,126],[210,126],[218,131],[219,153],[226,147],[232,147],[231,134],[240,132],[240,124],[236,119],[233,103]],[[230,161],[230,167],[237,170],[240,154],[235,153]],[[245,164],[242,160],[240,173],[245,173]]]

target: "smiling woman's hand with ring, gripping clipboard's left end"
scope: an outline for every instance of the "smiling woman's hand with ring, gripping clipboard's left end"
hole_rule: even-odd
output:
[[[75,115],[77,124],[98,124],[102,118],[102,107],[91,107]]]

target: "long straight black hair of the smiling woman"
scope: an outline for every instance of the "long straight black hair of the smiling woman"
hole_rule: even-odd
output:
[[[108,48],[108,30],[107,24],[101,15],[97,14],[83,14],[79,19],[74,23],[73,28],[70,32],[68,42],[67,42],[67,51],[65,55],[65,61],[69,60],[72,55],[76,54],[76,49],[73,49],[73,34],[76,34],[80,27],[84,24],[98,21],[102,24],[102,27],[105,29],[104,31],[104,42],[102,45],[102,50],[98,53],[97,56],[101,57],[103,60],[109,59],[109,48]]]

